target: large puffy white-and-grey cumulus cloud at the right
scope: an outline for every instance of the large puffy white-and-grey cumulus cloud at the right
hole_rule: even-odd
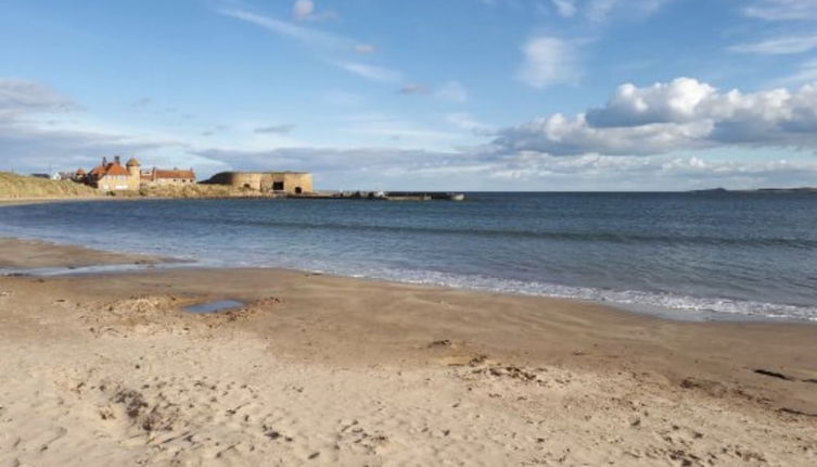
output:
[[[714,147],[817,149],[817,84],[796,91],[718,92],[691,78],[623,85],[600,109],[506,128],[500,152],[654,155]]]

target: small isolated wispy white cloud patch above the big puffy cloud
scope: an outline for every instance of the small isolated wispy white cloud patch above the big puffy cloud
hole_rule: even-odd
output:
[[[557,37],[531,38],[522,47],[524,62],[516,78],[528,86],[541,89],[559,84],[576,84],[580,77],[577,50]]]

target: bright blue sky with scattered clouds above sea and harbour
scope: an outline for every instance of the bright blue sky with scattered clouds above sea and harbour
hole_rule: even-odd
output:
[[[817,0],[0,0],[0,171],[817,186]]]

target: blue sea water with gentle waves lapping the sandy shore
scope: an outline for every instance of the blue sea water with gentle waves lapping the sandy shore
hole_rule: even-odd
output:
[[[0,210],[0,235],[213,266],[580,298],[679,318],[817,320],[810,194],[61,203]]]

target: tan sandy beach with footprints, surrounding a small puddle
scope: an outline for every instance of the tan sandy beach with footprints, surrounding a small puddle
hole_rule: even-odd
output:
[[[246,306],[181,311],[217,299]],[[272,269],[0,277],[0,466],[813,466],[816,329]]]

